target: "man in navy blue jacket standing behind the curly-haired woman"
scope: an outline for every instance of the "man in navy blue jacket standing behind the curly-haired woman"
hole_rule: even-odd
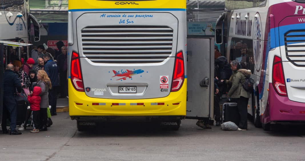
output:
[[[56,115],[57,91],[59,86],[57,64],[51,59],[50,54],[45,54],[43,59],[45,60],[44,70],[48,74],[52,84],[52,89],[49,90],[48,95],[49,104],[51,105],[51,115]]]

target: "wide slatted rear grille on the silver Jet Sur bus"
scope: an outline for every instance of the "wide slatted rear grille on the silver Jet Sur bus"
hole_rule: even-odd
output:
[[[167,26],[91,26],[81,37],[84,55],[95,63],[159,63],[172,53]]]

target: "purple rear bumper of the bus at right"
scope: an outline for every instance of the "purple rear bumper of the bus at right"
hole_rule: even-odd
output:
[[[272,83],[269,83],[269,105],[262,117],[262,123],[271,121],[289,122],[305,121],[305,103],[290,101],[288,97],[279,96]]]

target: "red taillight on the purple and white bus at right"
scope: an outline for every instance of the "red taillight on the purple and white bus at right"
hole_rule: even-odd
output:
[[[273,59],[272,84],[278,95],[287,96],[282,59],[278,56]]]

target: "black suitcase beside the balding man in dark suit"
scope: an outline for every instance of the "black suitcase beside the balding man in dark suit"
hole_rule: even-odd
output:
[[[27,112],[27,99],[25,95],[21,93],[20,95],[15,96],[17,104],[17,125],[21,125],[24,122],[25,114]]]

